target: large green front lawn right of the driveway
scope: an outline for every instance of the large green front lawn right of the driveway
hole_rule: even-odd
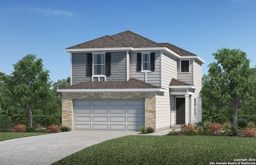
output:
[[[82,149],[53,165],[228,164],[236,162],[233,159],[256,159],[255,146],[256,138],[244,137],[125,136]]]

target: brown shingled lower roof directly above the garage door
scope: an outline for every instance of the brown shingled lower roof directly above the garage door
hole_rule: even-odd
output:
[[[144,83],[137,79],[129,81],[88,81],[81,84],[66,86],[60,89],[157,89],[158,86]]]

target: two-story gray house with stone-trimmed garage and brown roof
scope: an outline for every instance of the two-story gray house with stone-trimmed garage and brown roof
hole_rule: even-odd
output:
[[[71,86],[62,92],[62,125],[72,130],[156,131],[201,120],[197,55],[132,31],[65,49]]]

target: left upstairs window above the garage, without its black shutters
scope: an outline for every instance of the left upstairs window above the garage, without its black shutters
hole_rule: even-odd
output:
[[[105,55],[93,55],[93,75],[105,75]]]

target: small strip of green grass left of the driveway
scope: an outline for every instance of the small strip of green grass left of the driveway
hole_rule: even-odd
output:
[[[28,136],[49,134],[47,132],[0,132],[0,141],[23,138]]]

